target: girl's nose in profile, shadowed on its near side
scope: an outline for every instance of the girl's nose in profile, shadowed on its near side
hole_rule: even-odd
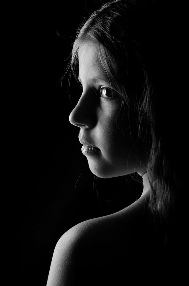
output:
[[[77,105],[70,113],[69,121],[71,124],[80,128],[93,128],[96,124],[95,102],[89,94],[81,95]]]

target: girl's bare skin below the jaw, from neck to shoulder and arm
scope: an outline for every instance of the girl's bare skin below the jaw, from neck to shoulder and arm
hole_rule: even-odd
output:
[[[114,266],[121,258],[120,255],[124,254],[124,261],[126,263],[128,262],[127,267],[124,268],[123,273],[119,273],[119,275],[116,276],[115,283],[108,284],[122,285],[121,282],[117,282],[121,274],[123,274],[127,280],[130,274],[127,272],[129,267],[131,267],[131,270],[137,268],[137,265],[141,263],[138,262],[140,258],[142,258],[144,263],[143,256],[140,257],[139,255],[139,257],[136,258],[138,250],[135,243],[133,248],[133,240],[138,240],[139,244],[141,241],[146,241],[148,246],[149,242],[152,241],[152,238],[149,237],[150,232],[145,233],[143,231],[143,229],[148,229],[145,213],[147,213],[148,217],[147,200],[151,190],[147,172],[142,178],[144,184],[143,195],[130,206],[111,215],[81,222],[62,235],[53,253],[47,286],[107,285],[101,280],[99,283],[92,284],[96,274],[99,274],[99,265],[101,265],[101,275],[105,273],[105,265],[106,267],[110,267],[111,265],[111,269],[114,270]],[[138,221],[139,224],[135,227]],[[99,251],[99,245],[103,245],[104,249],[108,249],[107,253],[110,253],[110,257],[106,257],[106,255],[103,255],[103,253]],[[141,247],[141,249],[144,250],[143,255],[145,250],[148,249],[147,245],[143,244]],[[131,255],[132,251],[135,253],[134,256]],[[84,256],[84,253],[86,256]],[[96,253],[95,256],[94,253]],[[114,255],[112,256],[112,254]],[[128,255],[131,256],[128,257]],[[147,254],[145,253],[145,255]],[[97,257],[96,264],[93,265],[94,268],[88,280],[86,277],[88,277],[90,265],[93,263],[95,257]],[[133,264],[134,268],[130,262],[130,259],[133,257],[135,259],[135,263]],[[149,259],[149,262],[152,265],[151,259]],[[88,266],[89,269],[87,268]],[[97,269],[95,268],[96,266]],[[141,266],[142,265],[140,265],[140,267]],[[81,273],[79,277],[75,274],[78,273],[78,271]],[[108,277],[110,275],[111,273],[108,273]],[[105,280],[107,280],[107,275],[105,275]]]

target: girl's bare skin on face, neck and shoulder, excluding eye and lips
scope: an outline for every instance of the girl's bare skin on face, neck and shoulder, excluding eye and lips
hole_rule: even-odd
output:
[[[141,235],[144,236],[141,230],[143,225],[146,226],[143,217],[148,209],[146,202],[151,187],[145,158],[137,148],[133,148],[133,138],[137,138],[135,120],[132,116],[129,116],[128,120],[128,112],[122,109],[121,99],[116,97],[115,93],[113,98],[107,98],[105,90],[100,94],[100,88],[111,89],[112,86],[105,80],[94,43],[85,43],[79,49],[78,56],[79,78],[83,85],[83,93],[69,120],[80,128],[80,141],[90,142],[92,146],[98,148],[97,153],[86,155],[90,170],[100,178],[138,172],[143,178],[144,190],[141,198],[125,209],[111,215],[86,220],[64,233],[53,253],[47,286],[91,285],[94,280],[93,274],[99,273],[98,267],[107,280],[104,265],[107,269],[108,267],[114,269],[122,253],[127,253],[128,256],[128,250],[133,247],[132,243],[136,238],[138,241],[145,240],[144,237],[141,239]],[[112,95],[111,92],[107,94]],[[139,229],[135,227],[130,229],[130,226],[135,226],[138,220],[140,220]],[[104,251],[107,251],[107,257],[99,250],[99,246],[102,245]],[[90,274],[90,265],[93,261],[96,262]],[[130,258],[128,261],[130,263]],[[78,273],[81,273],[81,276],[78,276]],[[124,269],[124,276],[127,277],[129,273],[125,273]],[[89,277],[86,274],[89,274]],[[100,282],[95,282],[95,285],[105,284],[100,278]]]

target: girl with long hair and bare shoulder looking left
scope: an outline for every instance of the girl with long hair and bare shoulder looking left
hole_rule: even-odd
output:
[[[59,239],[48,286],[151,285],[175,281],[176,271],[182,278],[179,36],[160,2],[104,4],[73,44],[71,68],[83,92],[69,120],[80,129],[89,168],[100,178],[137,172],[144,189],[125,209]]]

